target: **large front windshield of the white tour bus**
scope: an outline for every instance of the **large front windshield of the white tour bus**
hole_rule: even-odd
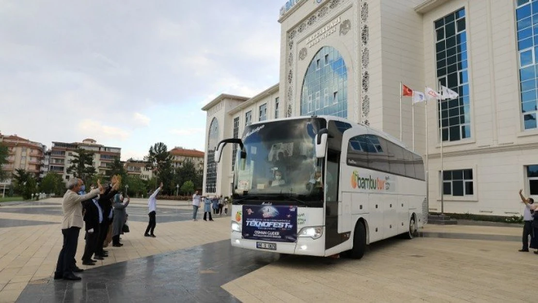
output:
[[[316,158],[314,139],[326,125],[324,119],[305,118],[247,126],[246,158],[236,155],[235,194],[320,199],[323,161]]]

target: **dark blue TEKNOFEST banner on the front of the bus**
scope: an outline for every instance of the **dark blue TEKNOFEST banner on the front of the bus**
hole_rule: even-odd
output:
[[[297,207],[243,205],[245,239],[295,242],[297,240]]]

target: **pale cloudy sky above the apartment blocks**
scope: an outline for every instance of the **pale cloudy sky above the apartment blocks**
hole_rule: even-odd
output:
[[[0,132],[203,151],[203,105],[279,82],[284,3],[0,0]]]

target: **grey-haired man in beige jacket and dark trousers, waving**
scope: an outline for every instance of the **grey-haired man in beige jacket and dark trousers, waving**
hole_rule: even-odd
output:
[[[94,198],[101,191],[100,188],[93,189],[85,195],[77,194],[83,185],[82,180],[72,178],[67,181],[67,192],[63,195],[62,210],[62,234],[63,246],[58,256],[54,279],[80,280],[80,277],[73,273],[73,260],[75,259],[76,245],[79,241],[79,232],[84,224],[82,218],[82,201]]]

